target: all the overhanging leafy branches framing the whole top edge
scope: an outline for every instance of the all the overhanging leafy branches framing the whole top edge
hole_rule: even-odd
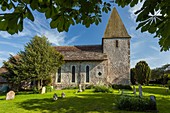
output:
[[[135,14],[137,29],[141,32],[155,33],[158,37],[162,51],[170,48],[170,1],[169,0],[111,0],[121,7],[137,3],[144,4]],[[1,0],[0,30],[10,34],[23,30],[25,18],[34,21],[33,11],[44,13],[47,19],[51,19],[51,28],[57,28],[59,32],[68,31],[70,25],[83,24],[89,27],[101,22],[101,13],[110,11],[110,2],[103,0]],[[88,7],[88,8],[87,8]],[[5,13],[11,10],[11,13]],[[158,15],[158,13],[160,15]]]

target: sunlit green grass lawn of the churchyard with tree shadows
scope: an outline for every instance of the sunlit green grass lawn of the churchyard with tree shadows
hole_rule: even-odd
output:
[[[52,100],[54,93],[60,97],[62,92],[65,92],[66,98]],[[77,89],[46,94],[20,93],[14,100],[8,101],[1,95],[0,113],[140,113],[116,109],[114,99],[120,96],[118,90],[108,94],[93,93],[93,90],[76,92]],[[124,95],[132,95],[132,91],[124,91]],[[143,86],[143,95],[155,95],[159,113],[170,113],[170,92],[167,93],[166,88]]]

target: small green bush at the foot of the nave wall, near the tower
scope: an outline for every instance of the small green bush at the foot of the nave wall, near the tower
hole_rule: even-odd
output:
[[[106,86],[95,86],[94,92],[112,93],[113,91]]]

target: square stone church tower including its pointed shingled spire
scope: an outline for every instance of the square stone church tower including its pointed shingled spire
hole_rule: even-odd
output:
[[[113,84],[130,84],[130,36],[113,8],[103,40],[103,53],[108,56],[107,81]]]

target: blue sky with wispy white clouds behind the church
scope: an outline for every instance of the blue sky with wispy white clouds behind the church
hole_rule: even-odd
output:
[[[145,60],[151,69],[161,67],[170,63],[170,51],[160,52],[158,44],[159,39],[153,38],[147,32],[141,33],[136,30],[136,15],[134,12],[141,7],[141,3],[130,8],[129,6],[121,8],[115,4],[129,35],[131,36],[130,45],[130,66],[135,67],[136,63]],[[0,12],[2,12],[0,10]],[[24,30],[18,34],[10,35],[5,31],[0,31],[0,67],[3,61],[7,61],[10,54],[16,55],[24,50],[24,45],[28,43],[35,35],[46,36],[53,45],[96,45],[102,43],[102,37],[110,16],[110,13],[102,14],[102,22],[96,26],[91,25],[86,28],[83,25],[75,25],[69,28],[68,32],[58,32],[57,29],[51,29],[49,20],[46,20],[44,14],[34,11],[35,21],[24,21]]]

